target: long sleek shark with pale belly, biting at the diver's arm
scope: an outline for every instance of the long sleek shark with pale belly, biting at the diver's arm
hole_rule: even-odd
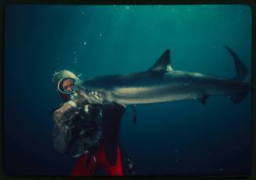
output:
[[[121,105],[200,100],[204,105],[211,95],[225,95],[240,103],[251,90],[251,75],[228,46],[236,66],[236,77],[216,77],[198,72],[174,70],[167,49],[150,69],[134,74],[92,77],[75,83],[89,103]]]

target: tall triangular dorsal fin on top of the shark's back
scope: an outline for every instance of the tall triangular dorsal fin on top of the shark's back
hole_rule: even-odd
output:
[[[167,49],[162,56],[148,70],[153,77],[163,77],[166,70],[173,70],[170,65],[170,49]]]

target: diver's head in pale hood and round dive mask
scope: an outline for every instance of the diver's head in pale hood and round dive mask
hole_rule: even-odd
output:
[[[78,80],[79,78],[69,70],[60,70],[53,75],[52,81],[56,85],[63,103],[70,100],[70,95],[76,91],[74,83]]]

